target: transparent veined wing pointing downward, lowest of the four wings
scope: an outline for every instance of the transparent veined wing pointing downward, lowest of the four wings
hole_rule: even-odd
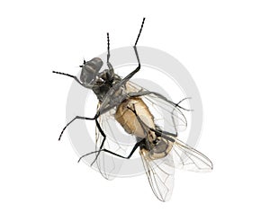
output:
[[[148,160],[146,150],[140,150],[139,154],[151,189],[157,199],[167,201],[171,198],[174,189],[175,168],[169,165],[172,162],[171,155],[166,155],[162,159]]]

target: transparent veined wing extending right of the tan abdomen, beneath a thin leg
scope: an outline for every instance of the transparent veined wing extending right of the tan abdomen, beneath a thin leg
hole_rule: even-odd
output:
[[[158,128],[175,135],[177,135],[177,132],[187,128],[187,120],[180,103],[171,102],[162,94],[149,92],[133,82],[128,82],[126,87],[129,93],[145,93],[140,97],[146,102],[149,110],[155,116],[155,124]]]

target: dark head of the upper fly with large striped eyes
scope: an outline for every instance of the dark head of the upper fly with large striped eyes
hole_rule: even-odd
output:
[[[84,66],[82,66],[80,75],[81,82],[85,84],[86,87],[92,88],[98,79],[99,71],[102,66],[103,61],[99,57],[94,57],[86,61]]]

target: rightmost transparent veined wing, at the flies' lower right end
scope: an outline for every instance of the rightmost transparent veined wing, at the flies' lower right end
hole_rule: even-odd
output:
[[[210,172],[212,170],[211,160],[206,155],[180,140],[175,140],[171,152],[175,168],[193,172]]]

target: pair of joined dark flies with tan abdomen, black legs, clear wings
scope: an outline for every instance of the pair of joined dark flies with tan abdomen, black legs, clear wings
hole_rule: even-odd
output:
[[[59,75],[73,77],[78,84],[92,90],[99,101],[94,118],[76,116],[63,128],[60,137],[64,130],[76,119],[94,120],[96,125],[95,151],[82,155],[79,161],[86,155],[95,155],[91,165],[96,163],[103,177],[110,179],[110,168],[104,165],[105,162],[101,161],[102,155],[106,153],[107,155],[114,155],[114,157],[129,159],[139,148],[139,155],[151,189],[157,199],[166,201],[170,199],[172,194],[175,168],[207,172],[211,171],[212,164],[207,156],[202,155],[202,153],[177,138],[177,126],[179,125],[177,122],[186,126],[186,119],[182,112],[185,109],[180,106],[180,102],[171,102],[162,94],[148,91],[130,81],[140,69],[137,43],[144,22],[145,18],[143,18],[137,40],[133,46],[138,66],[124,78],[114,73],[110,63],[109,33],[107,33],[107,69],[100,72],[103,61],[99,57],[94,57],[89,61],[84,60],[84,64],[80,66],[82,68],[80,79],[75,75],[53,71],[53,73]],[[163,123],[175,127],[175,133],[166,131],[158,124],[157,117],[149,110],[147,103],[162,110]],[[107,137],[103,125],[106,123],[106,117],[108,116],[116,120],[127,134],[136,138],[136,144],[129,155],[120,155],[112,151],[109,142],[106,142]],[[121,137],[118,137],[118,139],[121,139]]]

